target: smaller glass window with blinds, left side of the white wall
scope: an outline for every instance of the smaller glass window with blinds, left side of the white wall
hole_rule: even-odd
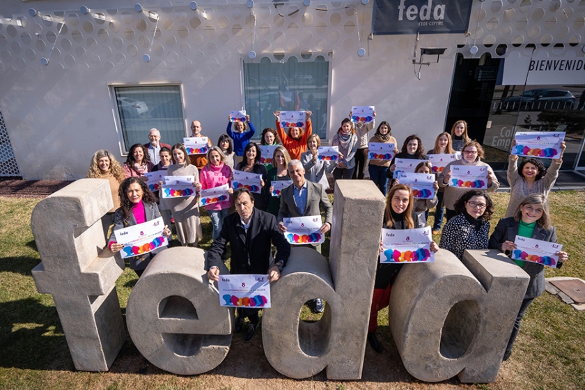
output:
[[[126,152],[134,143],[147,143],[153,127],[162,142],[182,142],[185,121],[180,86],[114,86],[114,96]]]

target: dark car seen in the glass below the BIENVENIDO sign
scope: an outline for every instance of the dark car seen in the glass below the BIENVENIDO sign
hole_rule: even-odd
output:
[[[572,109],[575,95],[564,89],[538,88],[524,91],[520,96],[506,99],[504,109],[508,111],[543,111],[545,109]]]

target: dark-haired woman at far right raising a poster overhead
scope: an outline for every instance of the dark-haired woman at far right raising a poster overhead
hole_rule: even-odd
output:
[[[514,148],[516,141],[513,141]],[[548,210],[546,198],[559,177],[559,169],[563,164],[563,152],[565,141],[561,143],[561,154],[559,158],[553,159],[549,168],[540,162],[540,159],[525,159],[518,164],[518,156],[510,154],[508,157],[508,182],[510,183],[510,201],[504,217],[512,217],[518,208],[520,201],[530,194],[543,194],[545,196],[545,208]]]

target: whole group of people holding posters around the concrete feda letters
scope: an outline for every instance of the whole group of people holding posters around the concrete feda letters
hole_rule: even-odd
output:
[[[212,245],[208,252],[208,278],[219,279],[219,265],[226,260],[226,248],[231,247],[231,272],[235,274],[268,274],[270,281],[280,277],[290,255],[290,244],[284,237],[286,226],[283,220],[289,217],[320,216],[325,212],[321,233],[331,229],[332,206],[325,190],[329,188],[327,176],[332,173],[334,180],[364,178],[363,171],[367,162],[368,142],[393,143],[389,123],[383,121],[377,126],[373,137],[368,132],[375,123],[353,123],[345,118],[332,144],[338,146],[338,159],[328,161],[318,158],[321,140],[312,133],[311,112],[306,111],[304,127],[289,127],[285,132],[276,116],[276,128],[263,130],[260,145],[277,146],[274,148],[271,164],[261,162],[258,143],[251,141],[255,133],[249,117],[245,121],[228,118],[226,134],[221,134],[217,146],[208,142],[205,155],[188,155],[185,146],[162,143],[156,129],[148,134],[149,143],[136,143],[131,146],[126,162],[121,166],[107,150],[98,150],[93,156],[89,178],[109,180],[114,208],[104,216],[104,234],[111,224],[114,228],[109,235],[108,246],[111,251],[120,251],[122,245],[116,242],[114,231],[140,224],[144,221],[163,217],[164,235],[171,236],[171,221],[174,222],[178,240],[182,245],[196,246],[201,239],[201,215],[198,206],[198,192],[231,184],[233,171],[256,173],[261,176],[259,193],[250,192],[246,187],[230,189],[231,201],[205,205],[212,221]],[[375,113],[374,113],[375,116]],[[201,123],[194,120],[191,125],[192,137],[203,137]],[[384,228],[409,229],[426,226],[428,212],[436,207],[435,223],[432,233],[438,234],[443,223],[443,207],[446,208],[446,225],[442,231],[439,245],[432,242],[431,250],[440,248],[451,251],[462,258],[465,249],[499,249],[506,252],[515,249],[515,235],[533,237],[538,240],[556,242],[554,227],[551,226],[547,194],[552,189],[562,163],[561,155],[554,159],[549,169],[538,159],[525,159],[520,166],[518,158],[510,155],[508,182],[510,182],[510,202],[504,219],[489,237],[490,217],[494,212],[492,201],[487,192],[494,192],[499,182],[491,167],[482,162],[483,148],[467,135],[467,123],[459,120],[451,132],[437,136],[435,147],[428,154],[453,154],[460,151],[461,158],[450,162],[437,175],[434,183],[435,197],[415,199],[412,189],[389,178],[396,171],[396,158],[418,159],[417,173],[432,173],[432,165],[425,153],[421,139],[412,134],[406,137],[400,150],[396,148],[391,161],[370,159],[368,171],[380,192],[386,196]],[[451,167],[485,166],[487,168],[487,191],[468,190],[449,185]],[[151,192],[144,180],[150,171],[166,171],[165,176],[192,176],[194,196],[183,198],[162,198]],[[292,185],[285,187],[281,196],[272,196],[274,182],[290,180]],[[160,183],[162,185],[162,183]],[[306,244],[320,251],[320,246]],[[272,248],[275,248],[274,252]],[[160,249],[159,249],[160,250]],[[130,267],[140,274],[157,251],[135,256],[130,259]],[[567,253],[557,253],[559,261],[567,260]],[[545,286],[543,265],[517,262],[529,275],[531,281],[522,307],[510,337],[504,360],[511,354],[520,320],[524,311]],[[379,264],[375,275],[375,289],[370,309],[368,343],[377,352],[382,352],[378,341],[377,313],[389,303],[391,286],[400,267],[396,264]],[[323,311],[324,302],[313,299],[313,311]],[[249,325],[244,332],[244,341],[251,340],[258,327],[258,309],[238,308],[235,331],[244,327],[244,318]]]

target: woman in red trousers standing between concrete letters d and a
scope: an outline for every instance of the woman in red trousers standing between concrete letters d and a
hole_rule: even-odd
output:
[[[386,209],[384,210],[384,224],[382,228],[387,229],[413,229],[422,228],[416,215],[413,214],[414,198],[412,190],[403,184],[395,185],[388,192],[386,198]],[[431,242],[430,250],[437,252],[439,249],[435,242]],[[380,241],[380,252],[382,241]],[[370,308],[370,321],[368,323],[368,343],[378,353],[382,353],[382,344],[376,336],[377,313],[388,306],[390,302],[390,291],[392,283],[402,264],[378,263],[374,281],[374,294]]]

